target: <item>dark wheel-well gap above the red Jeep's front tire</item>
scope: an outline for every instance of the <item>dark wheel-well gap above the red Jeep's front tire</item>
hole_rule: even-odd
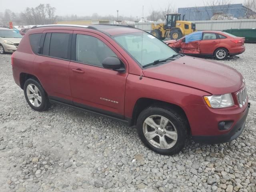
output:
[[[182,107],[180,107],[176,104],[164,102],[161,100],[155,100],[155,99],[151,99],[151,98],[139,98],[136,101],[133,111],[132,111],[132,120],[130,123],[131,126],[136,125],[137,118],[138,118],[140,112],[142,112],[145,108],[147,108],[149,106],[158,106],[158,107],[162,107],[162,108],[174,109],[176,112],[178,112],[180,115],[182,115],[188,122],[188,118],[186,116],[185,111],[182,109]],[[188,122],[188,127],[189,127],[188,133],[190,133],[189,122]]]

